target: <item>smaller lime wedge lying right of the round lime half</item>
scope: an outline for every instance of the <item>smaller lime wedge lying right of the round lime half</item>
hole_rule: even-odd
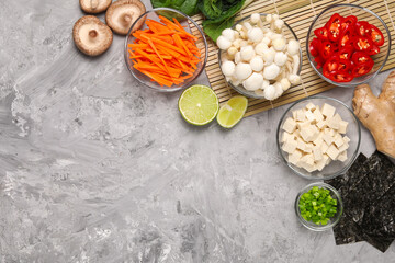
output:
[[[245,96],[237,95],[232,98],[226,104],[222,105],[217,115],[217,122],[224,128],[232,128],[242,118],[248,106]]]

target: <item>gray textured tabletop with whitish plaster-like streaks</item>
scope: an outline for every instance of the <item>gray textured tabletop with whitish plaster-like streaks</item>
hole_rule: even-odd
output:
[[[0,1],[0,262],[394,262],[395,244],[336,247],[297,222],[308,181],[274,139],[286,106],[192,127],[180,93],[132,78],[123,37],[76,50],[81,15],[77,0]],[[352,90],[325,95],[350,105]]]

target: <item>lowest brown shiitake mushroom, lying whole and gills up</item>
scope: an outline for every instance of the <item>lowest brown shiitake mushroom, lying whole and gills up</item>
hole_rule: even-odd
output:
[[[86,15],[76,22],[72,28],[72,38],[82,53],[88,56],[98,56],[109,49],[113,34],[100,19]]]

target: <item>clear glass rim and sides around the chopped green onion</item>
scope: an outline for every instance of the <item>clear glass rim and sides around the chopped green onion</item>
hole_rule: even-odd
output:
[[[332,218],[329,219],[327,225],[317,225],[312,221],[306,221],[301,215],[301,210],[298,208],[298,203],[300,203],[301,196],[304,193],[307,193],[311,188],[313,188],[313,186],[318,186],[319,188],[329,190],[330,196],[337,201],[337,213]],[[325,230],[328,230],[328,229],[331,229],[332,227],[335,227],[336,224],[338,224],[341,218],[342,210],[343,210],[343,204],[342,204],[339,192],[334,186],[326,184],[326,183],[321,183],[321,182],[308,184],[303,190],[301,190],[301,192],[298,192],[296,199],[295,199],[295,213],[296,213],[297,219],[302,222],[302,225],[304,227],[306,227],[309,230],[314,230],[314,231],[325,231]]]

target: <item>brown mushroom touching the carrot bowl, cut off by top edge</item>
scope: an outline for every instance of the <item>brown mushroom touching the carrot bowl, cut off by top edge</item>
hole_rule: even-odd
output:
[[[119,0],[108,9],[105,22],[116,34],[126,35],[132,24],[145,11],[145,5],[139,0]],[[144,20],[135,26],[135,30],[138,30],[143,23]]]

